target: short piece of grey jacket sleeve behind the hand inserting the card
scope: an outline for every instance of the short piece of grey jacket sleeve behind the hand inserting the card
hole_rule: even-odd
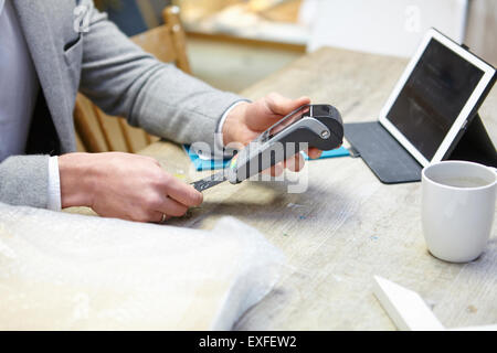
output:
[[[0,202],[46,208],[49,156],[15,156],[0,163]]]

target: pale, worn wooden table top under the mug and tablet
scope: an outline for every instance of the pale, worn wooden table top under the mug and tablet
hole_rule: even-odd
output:
[[[308,95],[339,108],[348,121],[372,120],[406,61],[337,49],[303,56],[247,88],[255,99],[269,92]],[[480,109],[497,136],[497,90]],[[166,170],[195,180],[184,152],[157,142],[142,151]],[[237,217],[281,248],[288,268],[277,287],[237,322],[239,330],[391,330],[372,293],[372,276],[417,291],[447,328],[497,323],[497,234],[477,260],[455,265],[431,256],[421,229],[421,184],[384,185],[361,159],[307,163],[308,190],[287,193],[284,182],[221,184],[204,204],[172,221],[211,228],[221,216]]]

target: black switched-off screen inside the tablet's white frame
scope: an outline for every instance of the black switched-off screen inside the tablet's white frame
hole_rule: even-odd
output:
[[[483,75],[432,39],[387,118],[430,161]]]

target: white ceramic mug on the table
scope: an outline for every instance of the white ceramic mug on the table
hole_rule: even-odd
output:
[[[422,190],[430,253],[451,263],[476,259],[494,223],[497,170],[465,161],[434,163],[423,169]]]

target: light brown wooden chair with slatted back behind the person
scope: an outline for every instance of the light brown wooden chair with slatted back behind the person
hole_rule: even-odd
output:
[[[162,18],[166,24],[133,36],[131,40],[158,60],[175,63],[180,69],[191,74],[179,8],[165,8]],[[83,94],[78,94],[76,98],[74,125],[77,148],[86,152],[134,153],[157,139],[141,129],[130,127],[124,118],[106,115]]]

